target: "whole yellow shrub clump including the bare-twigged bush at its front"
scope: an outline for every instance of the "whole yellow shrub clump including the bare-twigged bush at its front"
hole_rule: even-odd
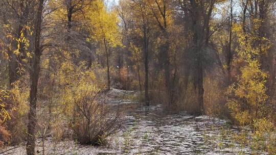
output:
[[[58,68],[55,80],[59,87],[54,90],[58,93],[51,120],[56,141],[73,135],[81,144],[101,144],[119,126],[119,111],[99,102],[103,87],[97,74],[70,62]]]

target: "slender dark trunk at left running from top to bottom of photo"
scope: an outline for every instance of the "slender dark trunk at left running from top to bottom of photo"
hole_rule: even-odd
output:
[[[37,85],[40,72],[40,35],[41,35],[41,17],[43,10],[44,0],[40,0],[38,4],[36,24],[35,24],[35,51],[32,62],[32,70],[30,73],[31,77],[31,90],[30,90],[30,111],[28,114],[28,134],[27,134],[27,145],[26,151],[28,155],[35,154],[35,133],[36,133],[36,101],[37,101]]]

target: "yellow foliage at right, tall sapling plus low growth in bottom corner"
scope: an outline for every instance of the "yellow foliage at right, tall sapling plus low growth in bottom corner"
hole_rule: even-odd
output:
[[[275,154],[276,127],[268,118],[271,109],[267,104],[269,96],[265,86],[268,75],[261,69],[260,63],[261,55],[267,53],[270,43],[266,38],[259,37],[260,23],[259,19],[254,19],[250,33],[244,33],[241,25],[234,24],[233,30],[237,33],[239,43],[236,61],[245,65],[240,67],[238,81],[227,89],[227,106],[241,126],[249,125],[253,129],[249,133],[252,139],[244,141],[244,147],[247,145],[253,150]],[[241,137],[237,136],[237,140],[240,141]]]

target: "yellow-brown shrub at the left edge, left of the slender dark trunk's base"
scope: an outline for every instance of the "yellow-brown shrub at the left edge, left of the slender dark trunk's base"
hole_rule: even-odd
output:
[[[10,90],[0,89],[0,141],[17,144],[25,139],[28,87],[23,76]],[[20,85],[19,85],[20,84]]]

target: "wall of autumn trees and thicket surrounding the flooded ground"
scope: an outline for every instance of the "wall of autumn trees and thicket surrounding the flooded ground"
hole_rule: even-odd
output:
[[[110,87],[139,90],[164,111],[275,130],[275,3],[2,0],[0,140],[27,136],[34,154],[43,125],[62,139],[76,115],[84,120],[74,98]]]

